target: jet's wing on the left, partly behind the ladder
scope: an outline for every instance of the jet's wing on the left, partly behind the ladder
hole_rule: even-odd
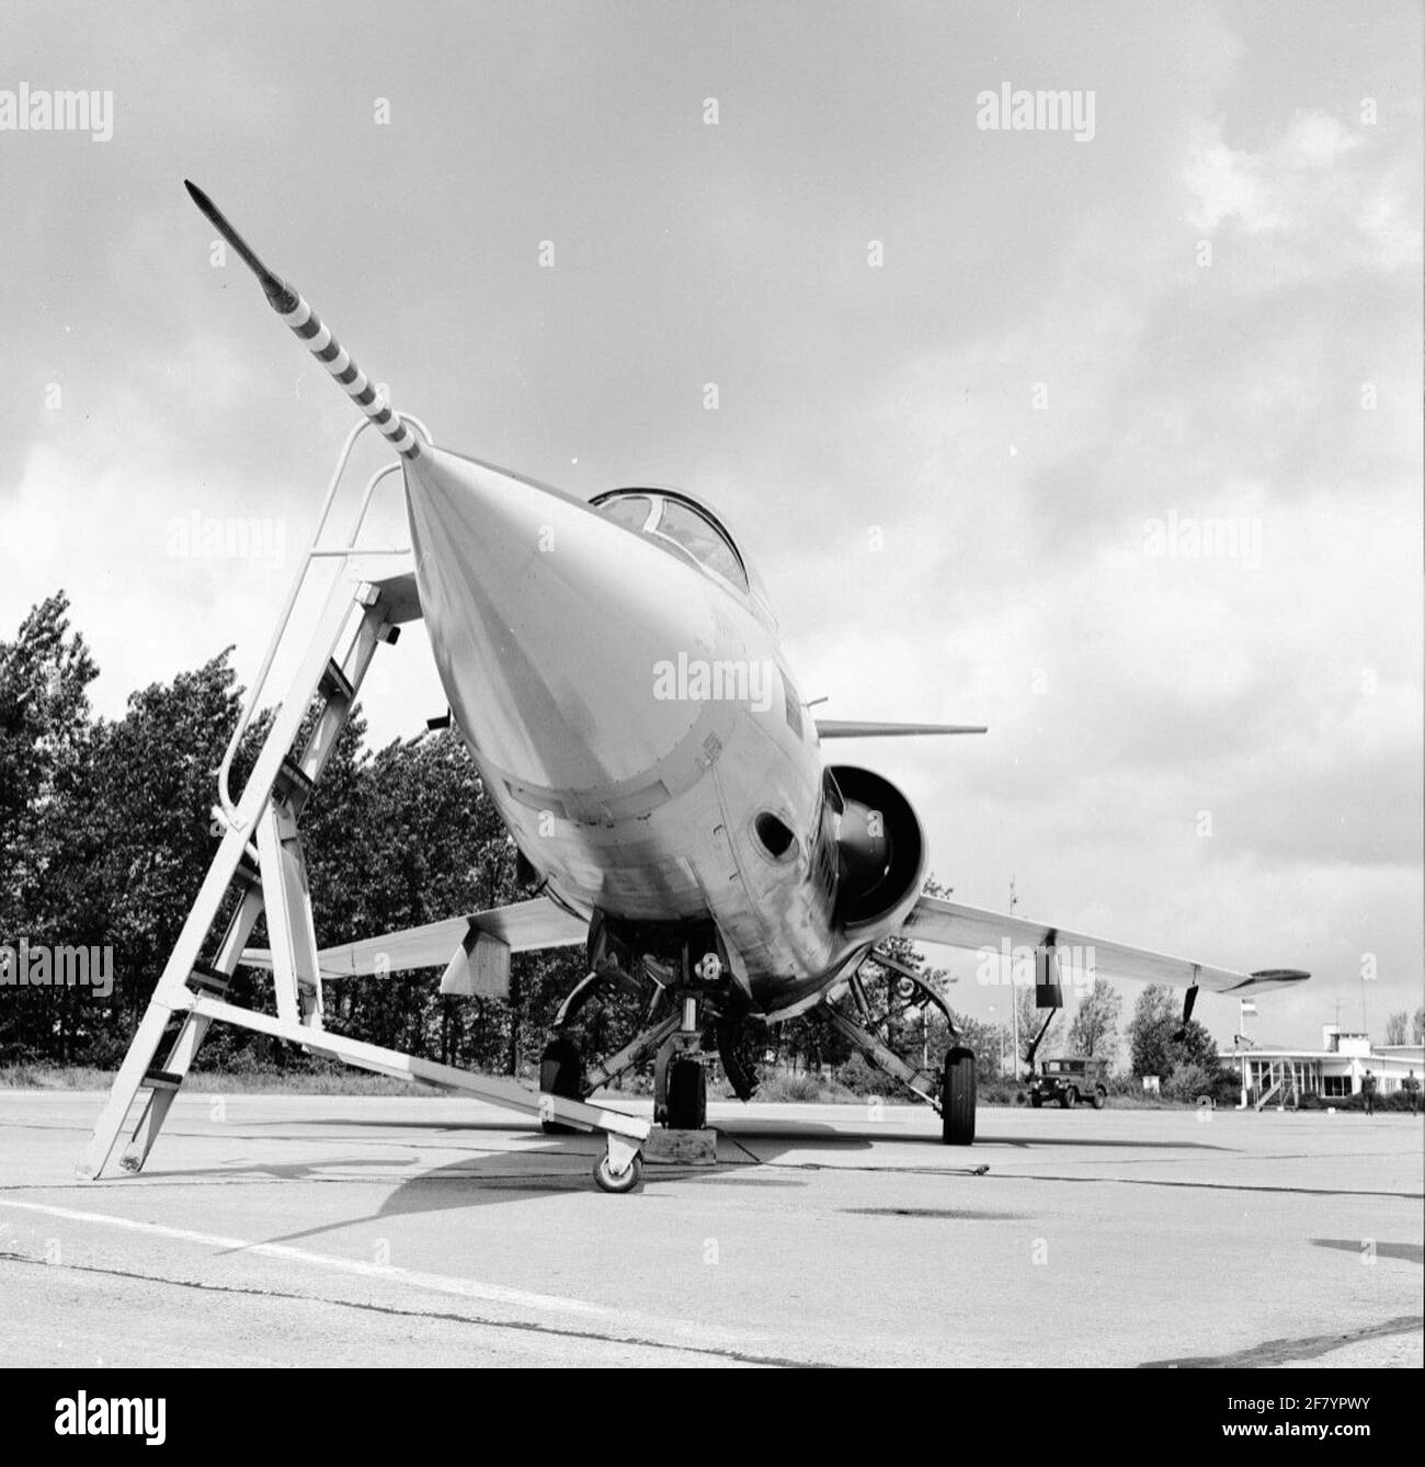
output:
[[[504,943],[510,952],[531,952],[540,948],[573,948],[588,937],[588,923],[570,917],[547,896],[535,896],[510,907],[493,907],[469,917],[447,917],[424,927],[406,927],[380,937],[323,948],[317,955],[325,978],[350,978],[374,973],[406,973],[410,968],[444,968],[450,955],[468,939],[484,933]],[[265,948],[248,948],[242,961],[251,967],[270,968],[271,954]]]

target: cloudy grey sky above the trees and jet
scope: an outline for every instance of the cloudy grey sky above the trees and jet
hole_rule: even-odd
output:
[[[1255,1039],[1382,1039],[1425,984],[1421,54],[1396,3],[9,4],[0,123],[111,101],[0,129],[0,637],[63,587],[107,716],[262,654],[355,412],[192,178],[443,446],[718,506],[827,716],[988,723],[834,748],[956,898],[1309,968]],[[1004,87],[1092,126],[982,125]],[[364,704],[444,711],[419,635]]]

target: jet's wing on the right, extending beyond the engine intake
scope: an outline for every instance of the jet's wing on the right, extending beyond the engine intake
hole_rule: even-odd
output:
[[[1311,977],[1299,968],[1264,968],[1258,973],[1217,968],[1189,958],[1171,958],[1146,948],[1129,948],[1122,942],[1089,937],[1069,927],[1053,927],[1026,917],[1007,917],[1001,912],[982,911],[979,907],[962,907],[940,896],[922,896],[906,918],[900,934],[915,942],[965,948],[972,952],[982,948],[1000,952],[1004,939],[1009,939],[1012,949],[1053,945],[1060,952],[1060,965],[1066,968],[1072,965],[1082,971],[1085,965],[1091,965],[1092,973],[1104,977],[1201,986],[1212,993],[1237,993],[1248,989],[1256,993],[1264,989],[1289,987]],[[1078,961],[1070,962],[1075,958]]]

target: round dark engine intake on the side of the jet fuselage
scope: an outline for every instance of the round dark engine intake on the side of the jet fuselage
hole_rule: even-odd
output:
[[[834,764],[842,791],[837,836],[836,923],[855,929],[874,923],[921,890],[925,836],[910,801],[885,778],[855,764]]]

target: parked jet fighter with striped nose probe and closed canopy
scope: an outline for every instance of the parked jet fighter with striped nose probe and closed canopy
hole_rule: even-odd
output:
[[[705,1122],[704,1037],[746,1099],[749,1024],[822,1009],[872,1064],[935,1106],[943,1137],[975,1135],[975,1061],[962,1043],[925,1075],[869,1024],[868,962],[916,1002],[940,993],[885,942],[1035,952],[1042,1008],[1061,1005],[1060,954],[1095,973],[1248,992],[1297,970],[1234,971],[1086,936],[1058,923],[922,895],[925,832],[910,801],[825,744],[982,734],[966,725],[817,719],[793,681],[745,550],[711,508],[638,486],[585,502],[425,442],[311,307],[217,207],[189,192],[270,304],[402,459],[421,612],[453,722],[515,845],[534,899],[383,933],[320,954],[324,977],[441,968],[444,993],[501,993],[510,955],[586,949],[541,1087],[582,1097],[655,1062],[655,1119]],[[262,961],[249,952],[249,961]],[[649,996],[623,1052],[582,1056],[566,1028],[603,984]],[[852,1003],[844,1003],[849,995]]]

